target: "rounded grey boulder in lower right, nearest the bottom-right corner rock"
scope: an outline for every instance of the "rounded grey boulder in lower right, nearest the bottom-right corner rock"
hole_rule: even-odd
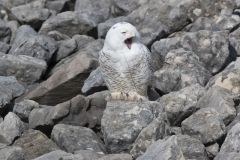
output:
[[[223,120],[214,108],[202,108],[185,119],[182,131],[203,144],[216,142],[226,133]]]

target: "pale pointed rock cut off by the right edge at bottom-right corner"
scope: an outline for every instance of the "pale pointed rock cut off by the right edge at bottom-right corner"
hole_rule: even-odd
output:
[[[220,153],[239,153],[239,127],[240,123],[237,123],[228,131],[227,137],[221,146]]]

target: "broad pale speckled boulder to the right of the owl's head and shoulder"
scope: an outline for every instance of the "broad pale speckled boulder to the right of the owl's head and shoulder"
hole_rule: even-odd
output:
[[[212,74],[219,72],[231,58],[228,50],[228,34],[225,31],[182,32],[175,37],[155,42],[151,50],[164,58],[170,50],[178,48],[184,48],[198,55],[199,61]]]

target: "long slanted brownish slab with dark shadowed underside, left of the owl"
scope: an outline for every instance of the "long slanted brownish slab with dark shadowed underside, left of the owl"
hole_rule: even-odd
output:
[[[46,105],[67,101],[81,92],[84,79],[97,65],[96,59],[86,54],[77,54],[25,98]]]

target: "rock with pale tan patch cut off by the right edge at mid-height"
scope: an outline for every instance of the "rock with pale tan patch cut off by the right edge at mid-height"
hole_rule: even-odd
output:
[[[207,88],[219,86],[231,91],[233,94],[240,94],[240,58],[230,63],[222,72],[212,77]]]

